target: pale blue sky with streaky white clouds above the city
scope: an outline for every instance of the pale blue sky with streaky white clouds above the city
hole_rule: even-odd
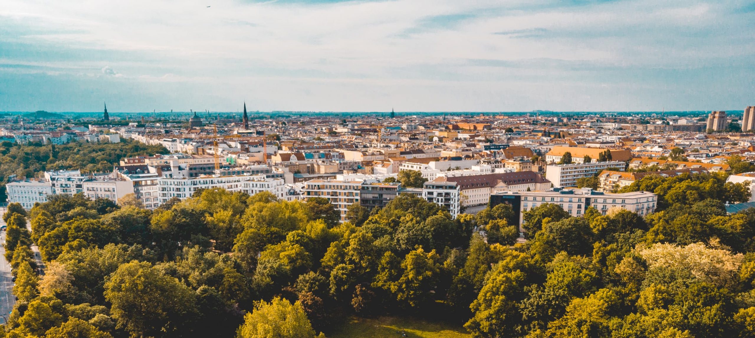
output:
[[[0,6],[0,111],[742,110],[753,73],[753,0]]]

